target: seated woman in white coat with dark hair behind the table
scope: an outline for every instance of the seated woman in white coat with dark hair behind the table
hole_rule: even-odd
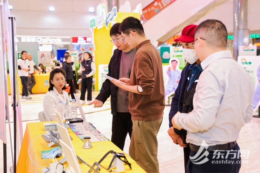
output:
[[[62,69],[54,69],[51,71],[50,74],[50,87],[49,92],[46,93],[44,99],[43,99],[43,112],[46,118],[46,121],[55,121],[57,120],[57,116],[55,111],[58,112],[58,104],[59,101],[62,101],[62,104],[64,106],[64,113],[65,113],[65,103],[68,100],[69,96],[68,93],[63,91],[66,89],[65,87],[65,80],[66,75],[64,70]],[[64,116],[61,115],[61,116]]]

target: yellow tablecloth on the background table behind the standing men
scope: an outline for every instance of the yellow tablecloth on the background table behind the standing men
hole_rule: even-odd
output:
[[[46,93],[48,92],[49,88],[49,79],[50,79],[50,74],[35,74],[35,86],[32,89],[32,92],[34,94],[39,94],[39,93]],[[11,85],[10,85],[10,75],[7,75],[7,81],[8,81],[8,94],[11,94]],[[20,93],[22,94],[22,82],[19,77],[19,86],[20,86]]]

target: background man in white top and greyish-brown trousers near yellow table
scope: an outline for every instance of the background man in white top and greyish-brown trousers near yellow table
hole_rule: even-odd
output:
[[[26,61],[28,61],[28,64],[30,66],[29,76],[28,76],[28,81],[27,81],[27,90],[28,90],[29,94],[33,94],[32,93],[32,88],[36,84],[36,81],[35,81],[35,78],[34,78],[34,75],[33,75],[34,74],[34,70],[33,69],[35,68],[38,71],[40,71],[40,70],[35,65],[34,61],[32,60],[32,55],[30,53],[28,53]]]

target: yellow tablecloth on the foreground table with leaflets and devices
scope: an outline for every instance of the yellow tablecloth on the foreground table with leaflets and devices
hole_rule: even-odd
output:
[[[47,151],[51,149],[48,147],[48,143],[43,139],[43,137],[41,136],[38,137],[41,134],[46,134],[44,131],[44,125],[43,125],[44,123],[46,122],[27,123],[26,130],[24,133],[24,140],[22,143],[19,159],[17,162],[16,170],[19,170],[19,172],[23,172],[23,173],[41,172],[43,168],[49,167],[48,164],[53,163],[52,159],[47,159],[48,163],[46,162],[46,159],[41,159],[41,151]],[[71,130],[69,129],[69,131]],[[111,141],[92,142],[91,144],[93,148],[83,149],[82,146],[84,142],[82,142],[74,132],[69,133],[69,135],[73,138],[72,144],[76,154],[80,156],[83,160],[85,160],[85,162],[87,162],[89,165],[93,165],[95,161],[98,162],[105,155],[105,153],[107,153],[110,150],[123,153],[123,151],[120,150],[118,147],[116,147],[116,145],[114,145]],[[56,146],[57,145],[53,145],[52,148]],[[29,147],[30,147],[30,151],[29,151]],[[32,159],[30,159],[28,151],[30,152],[30,156]],[[112,159],[111,157],[112,154],[110,154],[109,156],[110,157],[103,160],[101,163],[101,165],[105,166],[106,168],[108,167]],[[60,160],[62,158],[63,157],[60,157],[57,160]],[[35,163],[33,163],[32,160]],[[130,170],[130,168],[125,164],[126,172],[138,172],[138,173],[145,172],[129,156],[127,156],[127,160],[132,164],[132,170]],[[67,166],[67,162],[64,163],[64,166],[65,167]],[[81,169],[86,171],[89,170],[89,168],[84,164],[81,165]],[[101,168],[100,172],[106,172],[106,171],[104,171],[104,169],[102,170]]]

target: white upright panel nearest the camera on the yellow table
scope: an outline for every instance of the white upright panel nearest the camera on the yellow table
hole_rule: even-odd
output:
[[[80,165],[78,159],[76,157],[76,153],[73,151],[71,147],[69,147],[65,142],[60,140],[60,144],[62,146],[62,151],[67,158],[67,162],[70,168],[73,168],[74,172],[81,172]]]

